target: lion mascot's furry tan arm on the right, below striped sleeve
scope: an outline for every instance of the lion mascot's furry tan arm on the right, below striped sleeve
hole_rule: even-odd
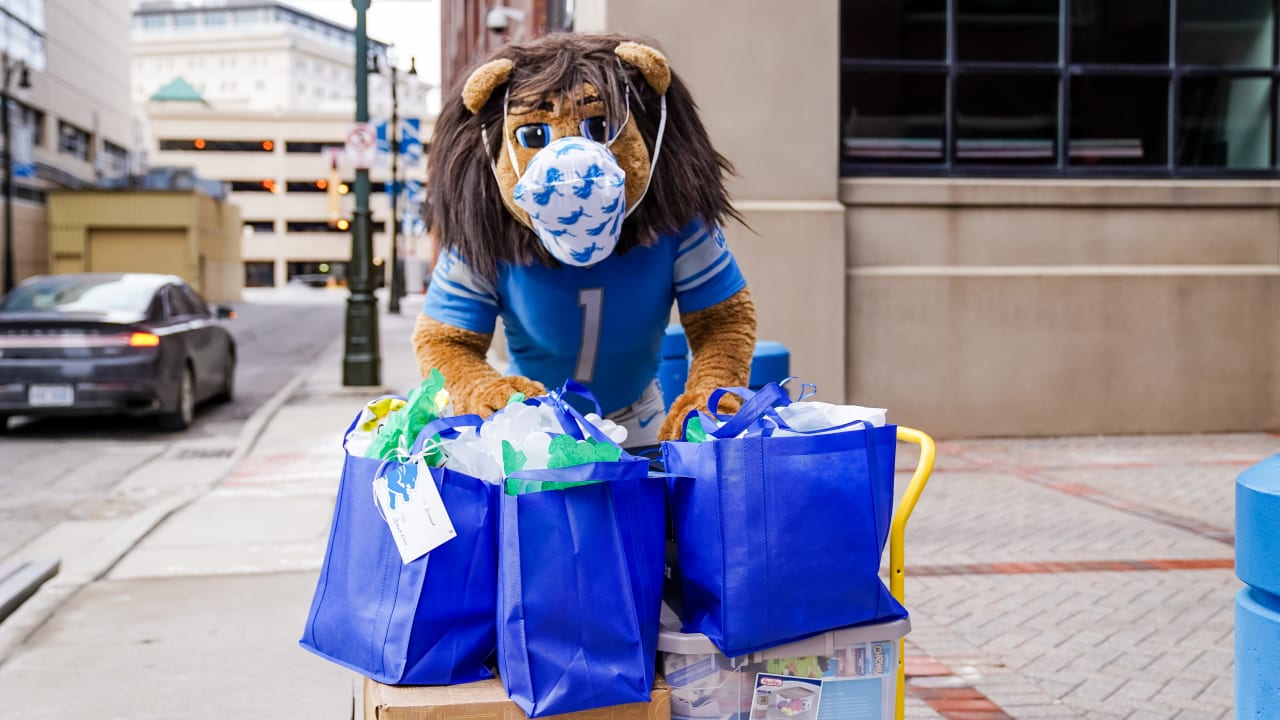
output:
[[[746,288],[705,310],[680,316],[694,360],[689,368],[685,392],[671,404],[659,439],[677,439],[690,410],[707,407],[716,388],[746,387],[751,377],[751,355],[755,352],[755,302]],[[719,411],[732,413],[739,398],[726,395]]]

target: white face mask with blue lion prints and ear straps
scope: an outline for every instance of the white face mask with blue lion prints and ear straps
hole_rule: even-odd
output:
[[[650,179],[667,127],[667,97],[663,96],[660,102],[658,137],[649,163]],[[507,117],[506,99],[503,117]],[[622,127],[630,119],[628,92],[627,115]],[[512,199],[516,206],[529,213],[530,227],[547,251],[561,263],[579,268],[595,265],[612,255],[622,236],[622,220],[635,211],[649,192],[649,184],[645,183],[636,204],[626,206],[626,172],[618,167],[608,147],[618,133],[603,145],[579,136],[561,137],[539,150],[524,172],[520,172],[509,133],[504,135],[511,167],[520,173]],[[485,147],[488,146],[485,138]],[[493,170],[497,177],[497,167]]]

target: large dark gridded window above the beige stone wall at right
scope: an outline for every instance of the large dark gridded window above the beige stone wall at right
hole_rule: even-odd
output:
[[[841,0],[841,170],[1280,176],[1277,0]]]

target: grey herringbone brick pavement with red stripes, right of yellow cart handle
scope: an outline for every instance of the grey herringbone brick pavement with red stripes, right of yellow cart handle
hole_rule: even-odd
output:
[[[1230,717],[1235,477],[1276,452],[1261,433],[940,443],[908,525],[908,717]]]

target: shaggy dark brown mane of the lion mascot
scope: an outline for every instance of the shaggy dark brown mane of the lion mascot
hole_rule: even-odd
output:
[[[575,102],[582,86],[596,88],[605,102],[611,126],[620,126],[631,97],[631,120],[653,156],[658,133],[659,96],[640,69],[620,61],[614,49],[631,38],[621,35],[556,33],[502,47],[475,67],[508,59],[513,69],[475,114],[463,104],[463,85],[472,67],[444,96],[428,152],[425,220],[435,232],[436,247],[456,251],[471,268],[495,278],[500,263],[527,265],[558,263],[538,237],[503,205],[490,159],[504,152],[503,99],[545,97],[559,94]],[[489,149],[481,141],[486,128]],[[653,245],[662,233],[675,232],[694,219],[724,224],[742,222],[733,210],[724,181],[733,167],[716,151],[698,117],[689,88],[671,73],[667,88],[667,127],[649,192],[622,224],[617,252]]]

